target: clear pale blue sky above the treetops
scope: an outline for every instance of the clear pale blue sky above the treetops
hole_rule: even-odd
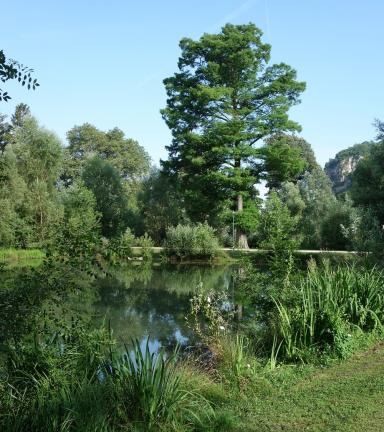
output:
[[[12,97],[0,112],[27,103],[64,144],[75,125],[118,127],[159,165],[171,142],[162,81],[177,71],[179,41],[253,22],[272,46],[270,64],[307,83],[290,118],[324,166],[384,120],[383,15],[382,0],[4,1],[0,49],[33,68],[40,87],[0,83]]]

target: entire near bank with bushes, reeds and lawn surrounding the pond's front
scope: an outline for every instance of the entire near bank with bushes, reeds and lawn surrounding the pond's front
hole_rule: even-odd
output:
[[[150,339],[120,349],[103,323],[50,314],[95,275],[94,251],[79,260],[65,244],[59,266],[51,257],[0,290],[2,431],[383,429],[384,271],[244,262],[238,298],[196,288],[186,318],[201,345],[156,354]],[[239,321],[241,296],[253,313]]]

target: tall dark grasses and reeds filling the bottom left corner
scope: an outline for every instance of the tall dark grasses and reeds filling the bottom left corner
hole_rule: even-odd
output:
[[[213,414],[179,366],[179,348],[165,355],[119,350],[105,330],[35,334],[3,347],[0,430],[112,431],[201,424]]]

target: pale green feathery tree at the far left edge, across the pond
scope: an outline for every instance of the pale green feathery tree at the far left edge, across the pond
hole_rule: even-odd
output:
[[[60,224],[55,183],[63,151],[53,132],[42,128],[22,104],[17,108],[16,113],[26,114],[0,156],[0,242],[25,248],[31,242],[49,242]]]

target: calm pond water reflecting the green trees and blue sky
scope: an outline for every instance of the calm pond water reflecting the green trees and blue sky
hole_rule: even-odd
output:
[[[28,263],[29,264],[29,263]],[[32,266],[8,266],[4,278],[29,272]],[[201,282],[206,290],[228,293],[235,303],[235,278],[238,265],[193,265],[156,262],[129,262],[109,270],[109,275],[99,273],[98,278],[81,278],[73,275],[81,286],[68,296],[71,319],[73,312],[89,316],[105,317],[111,326],[113,337],[120,343],[137,338],[141,346],[149,336],[151,351],[160,346],[172,346],[177,342],[188,345],[196,334],[188,327],[186,315],[190,300]],[[237,309],[241,312],[242,306]],[[56,309],[57,318],[61,309]]]

